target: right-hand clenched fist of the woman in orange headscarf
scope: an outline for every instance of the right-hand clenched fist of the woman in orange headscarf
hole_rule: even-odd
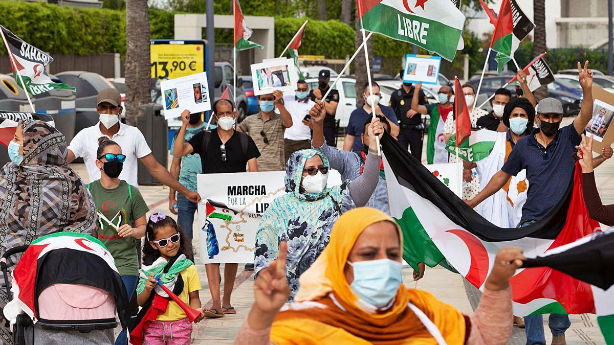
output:
[[[507,289],[510,286],[510,278],[514,276],[516,269],[523,266],[524,259],[523,250],[518,247],[499,249],[484,287],[491,291]]]

